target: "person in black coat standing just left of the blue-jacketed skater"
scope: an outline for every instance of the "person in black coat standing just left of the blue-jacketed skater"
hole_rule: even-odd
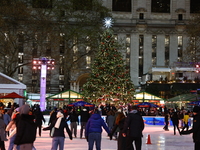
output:
[[[86,128],[86,124],[88,119],[90,118],[90,114],[86,108],[83,108],[80,112],[80,122],[81,122],[81,129],[80,129],[80,138],[83,137],[83,130]]]

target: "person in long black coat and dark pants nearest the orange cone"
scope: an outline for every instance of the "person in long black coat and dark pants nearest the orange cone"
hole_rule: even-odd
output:
[[[136,150],[142,148],[142,131],[144,130],[144,121],[137,111],[137,106],[131,106],[131,110],[124,122],[122,135],[127,137],[127,150],[132,149],[133,141],[135,141]]]

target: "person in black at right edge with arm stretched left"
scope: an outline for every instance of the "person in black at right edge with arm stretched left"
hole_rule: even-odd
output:
[[[200,107],[193,108],[193,126],[188,131],[181,131],[181,135],[193,133],[194,150],[200,150]]]

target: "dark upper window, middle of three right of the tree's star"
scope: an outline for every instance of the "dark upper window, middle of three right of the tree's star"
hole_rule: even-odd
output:
[[[170,13],[170,0],[151,0],[151,12]]]

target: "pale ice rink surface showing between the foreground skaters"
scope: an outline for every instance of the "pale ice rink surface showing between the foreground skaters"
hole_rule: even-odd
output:
[[[192,142],[192,135],[173,135],[173,128],[170,127],[170,131],[164,131],[162,126],[146,126],[143,132],[142,150],[193,150],[194,144]],[[64,150],[87,150],[87,141],[80,139],[78,127],[78,137],[70,140],[66,134],[65,148]],[[151,144],[146,144],[148,135],[150,137]],[[37,137],[34,145],[37,150],[50,150],[51,138],[49,137],[49,131],[42,131],[42,136]],[[5,142],[6,149],[8,142]],[[102,150],[117,150],[117,141],[109,140],[107,134],[103,132]],[[96,150],[94,148],[94,150]]]

